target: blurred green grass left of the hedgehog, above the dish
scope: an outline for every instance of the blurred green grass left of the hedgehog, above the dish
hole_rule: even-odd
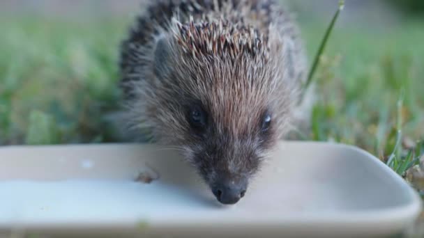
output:
[[[124,22],[0,19],[0,143],[114,140]]]

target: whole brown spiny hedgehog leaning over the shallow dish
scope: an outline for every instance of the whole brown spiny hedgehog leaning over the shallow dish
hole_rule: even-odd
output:
[[[121,120],[181,152],[232,205],[303,120],[305,61],[298,27],[275,1],[154,1],[121,45]]]

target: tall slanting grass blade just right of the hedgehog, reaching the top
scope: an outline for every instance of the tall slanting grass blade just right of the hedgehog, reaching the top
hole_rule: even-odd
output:
[[[340,15],[340,12],[343,10],[343,8],[345,8],[345,1],[340,0],[338,10],[335,12],[333,19],[331,20],[331,23],[326,30],[324,38],[322,39],[321,45],[319,46],[319,49],[318,49],[317,54],[315,56],[314,63],[312,63],[312,68],[310,69],[310,72],[308,74],[308,80],[306,81],[306,84],[304,85],[303,92],[305,92],[310,86],[310,83],[312,81],[312,78],[314,77],[315,71],[318,68],[319,59],[321,58],[321,55],[324,52],[324,49],[325,49],[326,44],[328,42],[328,38],[331,35],[331,31],[333,31],[333,27],[335,25],[335,22],[337,22],[337,19]],[[302,95],[302,97],[303,97],[303,95]]]

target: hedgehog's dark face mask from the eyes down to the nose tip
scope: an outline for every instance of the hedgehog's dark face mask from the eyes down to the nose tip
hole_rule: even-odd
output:
[[[220,203],[234,204],[245,195],[250,177],[259,169],[264,153],[273,142],[272,114],[264,109],[246,120],[233,118],[231,109],[217,113],[213,107],[202,102],[184,107],[188,122],[183,141],[185,156]],[[225,113],[229,118],[217,116]]]

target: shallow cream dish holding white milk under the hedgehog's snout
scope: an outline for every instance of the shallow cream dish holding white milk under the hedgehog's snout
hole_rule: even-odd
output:
[[[159,179],[135,182],[139,173]],[[155,145],[0,148],[0,199],[0,235],[376,237],[421,211],[414,190],[368,152],[298,142],[281,142],[234,206]]]

